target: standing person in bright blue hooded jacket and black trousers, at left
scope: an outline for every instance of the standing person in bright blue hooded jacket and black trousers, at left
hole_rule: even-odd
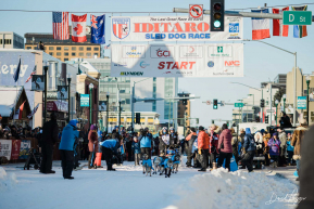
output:
[[[62,138],[59,145],[63,178],[68,180],[74,179],[71,175],[74,165],[74,146],[79,136],[77,123],[78,121],[76,119],[70,120],[68,125],[64,127],[62,131]]]

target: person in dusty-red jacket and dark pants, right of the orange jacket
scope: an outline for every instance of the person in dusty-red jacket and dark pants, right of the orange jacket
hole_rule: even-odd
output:
[[[228,126],[226,123],[223,125],[222,127],[222,133],[219,135],[219,141],[218,141],[218,164],[217,167],[222,167],[225,161],[225,168],[227,168],[230,171],[230,160],[233,158],[233,145],[231,145],[231,140],[233,135],[230,130],[228,129]]]

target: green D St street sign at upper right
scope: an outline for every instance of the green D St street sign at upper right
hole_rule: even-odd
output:
[[[284,11],[284,25],[312,25],[312,11]]]

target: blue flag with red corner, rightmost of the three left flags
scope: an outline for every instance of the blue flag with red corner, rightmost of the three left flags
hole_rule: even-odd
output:
[[[104,41],[104,14],[101,16],[90,15],[91,39],[90,42],[103,44]]]

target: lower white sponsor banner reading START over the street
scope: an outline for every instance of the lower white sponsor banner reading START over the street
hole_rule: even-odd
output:
[[[243,77],[243,44],[112,44],[111,65],[112,77]]]

